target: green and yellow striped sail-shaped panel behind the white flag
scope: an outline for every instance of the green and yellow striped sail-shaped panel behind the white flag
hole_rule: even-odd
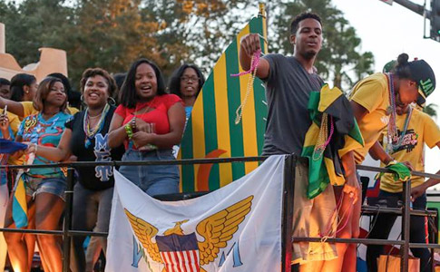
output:
[[[221,54],[203,85],[191,112],[179,157],[181,159],[258,156],[266,129],[267,103],[263,83],[256,78],[243,108],[242,119],[235,124],[236,111],[243,101],[250,74],[231,77],[243,70],[239,63],[240,38],[258,33],[266,38],[264,7],[250,20]],[[263,53],[266,44],[261,40]],[[254,170],[258,162],[183,165],[181,190],[184,192],[219,189]]]

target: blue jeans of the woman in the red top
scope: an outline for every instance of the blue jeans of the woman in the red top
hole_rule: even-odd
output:
[[[175,160],[172,150],[135,151],[129,149],[122,161]],[[177,165],[122,165],[121,174],[150,196],[179,192],[179,166]]]

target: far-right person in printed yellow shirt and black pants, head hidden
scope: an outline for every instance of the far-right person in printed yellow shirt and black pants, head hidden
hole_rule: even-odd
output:
[[[424,145],[429,148],[440,148],[440,130],[435,121],[425,112],[413,109],[411,106],[396,107],[397,136],[388,141],[388,133],[383,133],[383,147],[397,161],[408,161],[417,171],[425,171]],[[373,156],[375,151],[370,152]],[[384,167],[384,164],[381,165]],[[433,181],[424,183],[423,177],[411,177],[411,187],[416,187],[417,198],[413,199],[414,209],[426,209],[425,189]],[[385,174],[380,179],[379,197],[402,199],[403,184],[395,181],[391,174]],[[413,191],[413,195],[415,192]],[[415,197],[416,197],[415,196]],[[389,232],[396,221],[396,215],[380,214],[377,216],[369,238],[388,238]],[[425,243],[425,218],[411,217],[410,242]],[[427,248],[411,248],[416,257],[420,258],[420,271],[430,271],[430,253]],[[376,271],[376,258],[387,254],[383,246],[369,245],[367,247],[367,260],[370,271]]]

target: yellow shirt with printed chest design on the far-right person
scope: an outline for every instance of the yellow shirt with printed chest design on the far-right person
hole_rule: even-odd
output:
[[[396,127],[398,136],[393,142],[401,140],[401,134],[405,127],[406,114],[396,115]],[[383,133],[383,146],[386,149],[386,131]],[[397,161],[409,161],[416,171],[425,171],[424,163],[424,144],[432,149],[440,141],[440,130],[435,121],[425,112],[413,109],[411,119],[409,120],[402,145],[390,153]],[[384,165],[381,165],[384,167]],[[425,181],[423,177],[412,177],[411,187],[418,186]],[[402,182],[394,181],[390,174],[385,174],[380,180],[380,189],[388,192],[401,192]]]

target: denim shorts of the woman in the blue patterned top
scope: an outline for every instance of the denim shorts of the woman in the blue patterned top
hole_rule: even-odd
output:
[[[18,182],[15,182],[15,188]],[[33,178],[27,176],[25,178],[24,187],[26,189],[26,195],[31,196],[33,199],[39,193],[50,193],[55,196],[60,197],[65,201],[65,189],[66,189],[65,178]],[[14,190],[15,190],[14,188]]]

